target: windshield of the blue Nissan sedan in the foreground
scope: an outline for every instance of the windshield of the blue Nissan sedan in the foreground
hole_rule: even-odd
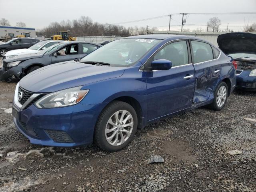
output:
[[[131,66],[161,40],[127,38],[110,42],[88,54],[80,62],[103,62],[110,66]]]

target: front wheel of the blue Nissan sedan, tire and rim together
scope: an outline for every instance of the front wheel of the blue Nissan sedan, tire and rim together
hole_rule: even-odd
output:
[[[115,114],[118,114],[119,122],[130,126],[118,123]],[[94,144],[109,152],[121,150],[134,138],[137,126],[138,118],[134,108],[126,102],[114,101],[106,106],[98,118],[94,130]]]

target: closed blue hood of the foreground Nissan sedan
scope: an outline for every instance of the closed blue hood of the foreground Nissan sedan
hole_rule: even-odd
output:
[[[20,80],[20,86],[36,93],[47,93],[84,86],[122,76],[125,67],[95,66],[75,61],[40,68]]]

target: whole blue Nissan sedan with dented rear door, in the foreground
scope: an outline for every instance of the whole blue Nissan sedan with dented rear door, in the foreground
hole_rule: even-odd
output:
[[[231,58],[204,40],[132,36],[31,72],[16,86],[12,114],[33,144],[117,151],[150,123],[200,106],[221,110],[235,86]]]

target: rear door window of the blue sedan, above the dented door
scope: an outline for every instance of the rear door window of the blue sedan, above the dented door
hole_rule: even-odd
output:
[[[191,41],[191,44],[194,55],[194,63],[200,63],[213,59],[213,53],[210,44],[200,41]]]

